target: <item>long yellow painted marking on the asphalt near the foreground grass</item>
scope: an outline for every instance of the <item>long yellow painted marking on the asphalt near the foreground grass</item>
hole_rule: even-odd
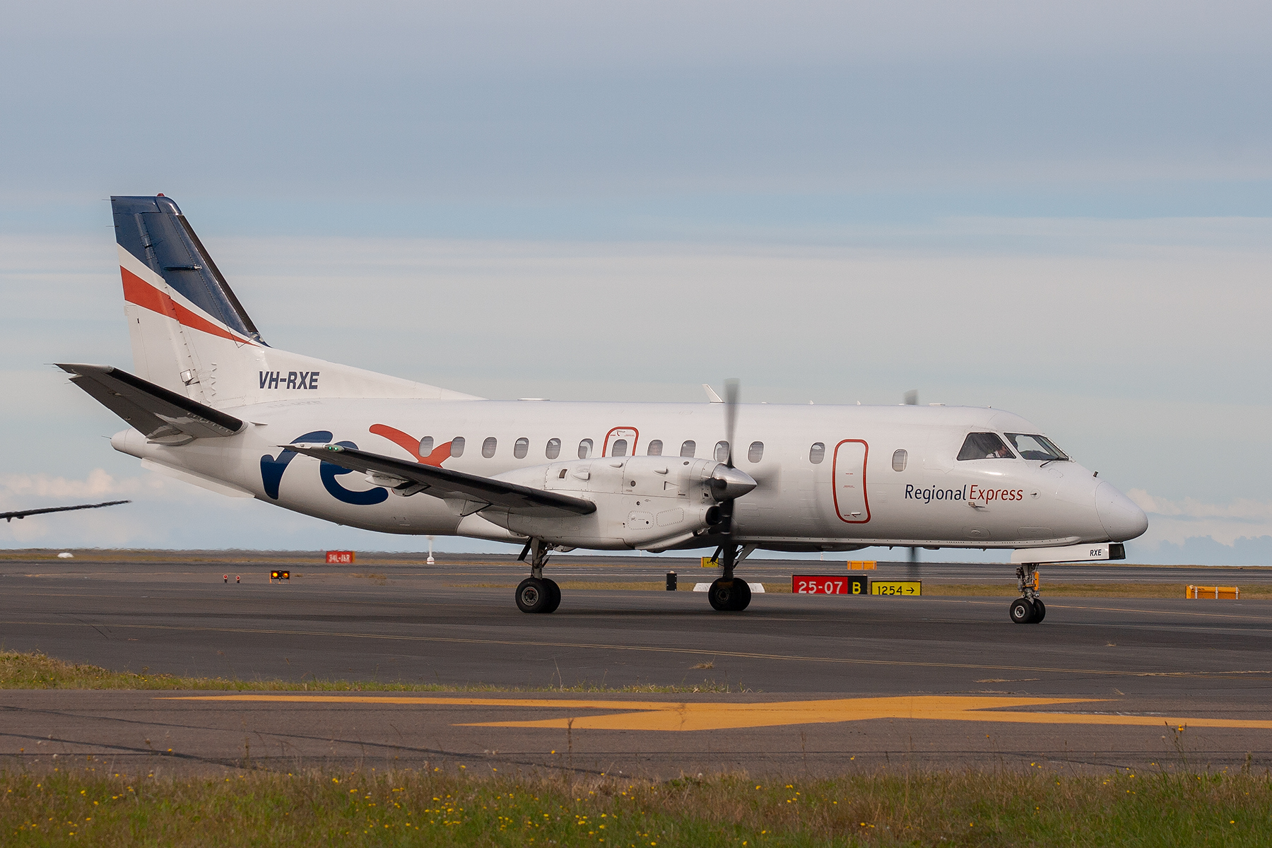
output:
[[[935,721],[988,721],[1027,725],[1127,725],[1177,727],[1231,727],[1272,730],[1272,721],[1248,718],[1182,718],[1075,712],[1007,712],[1004,707],[1047,707],[1093,703],[1099,698],[1002,698],[985,695],[903,695],[897,698],[836,698],[772,703],[686,703],[661,701],[555,701],[546,698],[429,698],[406,695],[234,694],[182,695],[159,701],[245,701],[266,703],[431,704],[448,707],[504,707],[519,709],[600,709],[609,715],[584,715],[530,721],[462,722],[457,727],[571,727],[574,730],[729,730],[824,725],[873,718],[927,718]]]

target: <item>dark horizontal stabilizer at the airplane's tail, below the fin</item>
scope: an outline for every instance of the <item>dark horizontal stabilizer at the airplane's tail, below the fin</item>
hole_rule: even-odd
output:
[[[71,383],[141,431],[150,441],[184,445],[195,439],[233,436],[243,422],[219,409],[148,383],[109,365],[64,365]]]

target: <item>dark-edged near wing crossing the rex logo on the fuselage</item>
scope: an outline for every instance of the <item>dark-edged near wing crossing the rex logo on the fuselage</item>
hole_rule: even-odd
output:
[[[464,474],[449,468],[393,459],[392,456],[382,456],[354,448],[343,448],[341,445],[326,445],[323,448],[303,448],[300,445],[280,446],[350,470],[396,477],[416,486],[422,486],[422,491],[434,497],[476,501],[488,506],[504,507],[518,515],[569,517],[589,515],[597,511],[595,503],[581,497],[544,492],[527,486],[518,486],[516,483],[491,479],[490,477],[477,477],[476,474]]]

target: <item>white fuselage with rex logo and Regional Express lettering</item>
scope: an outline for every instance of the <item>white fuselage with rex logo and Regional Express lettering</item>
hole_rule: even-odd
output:
[[[655,441],[668,460],[681,456],[688,441],[695,442],[692,455],[711,458],[724,439],[722,409],[715,403],[298,399],[234,412],[252,423],[228,439],[167,446],[126,431],[112,444],[327,521],[380,533],[453,535],[462,533],[463,516],[446,501],[424,493],[389,496],[385,487],[345,470],[324,481],[321,463],[308,456],[294,456],[281,469],[275,492],[267,491],[265,477],[271,465],[276,468],[281,446],[293,441],[343,442],[413,459],[406,448],[373,431],[384,427],[416,442],[431,436],[438,446],[462,437],[463,453],[448,455],[444,467],[481,477],[553,462],[571,472],[617,467],[632,455],[646,455]],[[955,459],[968,432],[1040,432],[1009,412],[744,404],[738,417],[734,462],[758,483],[738,500],[733,533],[740,543],[767,549],[1021,548],[1117,542],[1142,533],[1142,512],[1076,462]],[[518,440],[525,440],[522,456],[514,455],[520,453]],[[550,440],[558,440],[556,458],[548,455]],[[616,456],[619,440],[623,455]],[[762,449],[756,450],[754,442]],[[904,451],[903,459],[898,451]],[[377,492],[383,492],[377,502],[365,502]],[[628,500],[636,509],[641,496]],[[494,525],[466,526],[464,535],[514,540]]]

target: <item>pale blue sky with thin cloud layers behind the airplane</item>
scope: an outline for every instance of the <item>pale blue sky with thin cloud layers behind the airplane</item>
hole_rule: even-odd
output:
[[[1267,4],[5,17],[0,509],[135,502],[3,547],[422,547],[109,449],[50,364],[131,365],[106,198],[164,192],[275,347],[492,398],[1007,408],[1149,512],[1131,559],[1272,564]]]

